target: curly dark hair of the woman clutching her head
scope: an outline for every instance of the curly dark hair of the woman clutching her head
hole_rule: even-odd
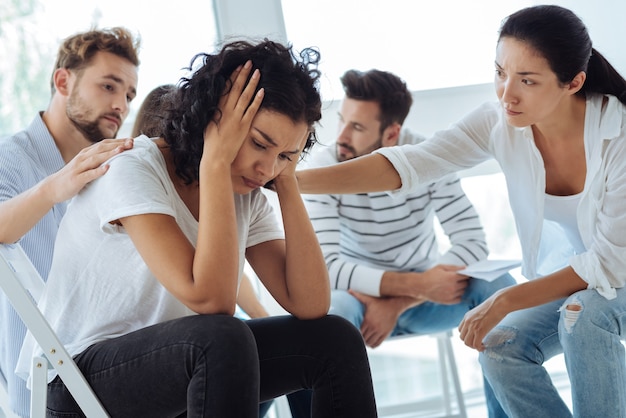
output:
[[[317,50],[306,48],[296,54],[292,46],[268,39],[256,44],[238,40],[215,54],[194,56],[188,67],[193,74],[181,78],[165,109],[164,139],[176,174],[188,184],[198,180],[204,129],[218,116],[218,103],[230,89],[232,72],[248,60],[261,72],[256,87],[265,91],[261,109],[286,115],[296,123],[306,122],[309,136],[304,151],[309,150],[317,142],[314,124],[322,117],[319,57]],[[201,65],[194,70],[198,62]]]

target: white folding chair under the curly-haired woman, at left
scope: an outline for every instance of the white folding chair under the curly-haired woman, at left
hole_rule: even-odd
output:
[[[46,416],[48,368],[53,367],[83,413],[89,418],[108,417],[56,334],[34,301],[45,284],[18,244],[0,244],[0,289],[45,353],[32,363],[31,418]]]

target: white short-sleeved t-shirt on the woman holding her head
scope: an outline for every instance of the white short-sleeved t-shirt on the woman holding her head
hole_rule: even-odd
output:
[[[234,199],[241,277],[246,247],[283,239],[284,233],[260,190]],[[72,356],[96,342],[194,314],[152,275],[124,229],[110,224],[147,213],[173,216],[195,245],[198,223],[178,196],[156,144],[141,136],[72,200],[59,227],[39,306]],[[16,371],[28,375],[30,359],[39,353],[27,334]]]

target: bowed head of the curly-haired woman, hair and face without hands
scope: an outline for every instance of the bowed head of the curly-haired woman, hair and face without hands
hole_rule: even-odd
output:
[[[168,103],[164,138],[176,174],[185,182],[198,180],[204,130],[218,112],[220,97],[230,89],[231,74],[249,60],[253,66],[250,74],[254,69],[260,71],[256,91],[263,89],[264,95],[249,137],[244,140],[231,170],[236,169],[240,156],[254,154],[258,157],[254,181],[265,184],[293,157],[288,152],[276,151],[280,147],[272,143],[272,136],[283,138],[285,132],[298,125],[304,128],[304,135],[291,140],[302,142],[306,136],[303,152],[317,142],[314,125],[322,117],[319,53],[306,48],[298,54],[291,46],[267,39],[258,43],[233,41],[214,54],[196,55],[189,67],[193,74],[181,79]]]

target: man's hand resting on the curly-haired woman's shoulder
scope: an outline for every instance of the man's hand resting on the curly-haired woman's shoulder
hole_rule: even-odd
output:
[[[104,162],[132,147],[131,138],[105,139],[81,150],[65,167],[43,181],[51,206],[74,197],[85,185],[107,172],[109,166]]]

